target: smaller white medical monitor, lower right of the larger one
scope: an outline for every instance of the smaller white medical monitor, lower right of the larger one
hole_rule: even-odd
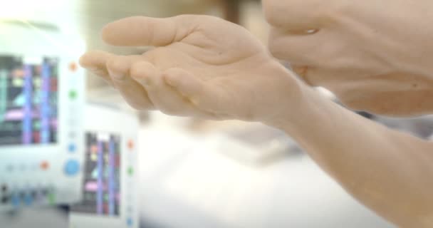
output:
[[[138,227],[137,117],[102,105],[85,113],[83,200],[71,227]]]

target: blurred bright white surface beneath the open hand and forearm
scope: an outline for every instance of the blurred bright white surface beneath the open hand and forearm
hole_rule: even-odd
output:
[[[392,227],[346,194],[306,155],[242,165],[209,140],[140,133],[142,219],[163,227]],[[224,142],[221,142],[224,143]]]

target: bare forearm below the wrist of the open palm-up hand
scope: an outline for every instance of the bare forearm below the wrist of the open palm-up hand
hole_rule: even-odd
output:
[[[300,88],[296,101],[286,103],[286,118],[268,124],[285,130],[383,217],[401,227],[432,227],[432,143],[362,118],[302,83]]]

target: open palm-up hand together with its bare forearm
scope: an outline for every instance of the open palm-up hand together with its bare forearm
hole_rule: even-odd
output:
[[[156,46],[142,56],[91,51],[80,59],[134,108],[281,128],[382,217],[400,227],[433,226],[432,143],[321,97],[244,28],[209,16],[132,17],[105,26],[103,39]]]

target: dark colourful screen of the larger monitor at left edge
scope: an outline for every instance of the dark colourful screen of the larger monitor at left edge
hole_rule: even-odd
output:
[[[57,142],[58,59],[0,55],[0,146]]]

